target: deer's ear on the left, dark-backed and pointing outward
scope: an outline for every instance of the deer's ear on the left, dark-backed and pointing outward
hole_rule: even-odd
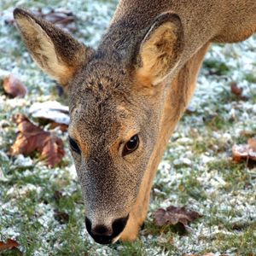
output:
[[[25,9],[15,9],[14,16],[33,60],[45,73],[65,86],[89,59],[92,49]]]

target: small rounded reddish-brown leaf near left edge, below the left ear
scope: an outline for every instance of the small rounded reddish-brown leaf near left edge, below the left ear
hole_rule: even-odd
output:
[[[24,97],[26,95],[26,86],[16,79],[15,76],[9,75],[9,77],[3,79],[3,90],[9,96],[20,96]]]

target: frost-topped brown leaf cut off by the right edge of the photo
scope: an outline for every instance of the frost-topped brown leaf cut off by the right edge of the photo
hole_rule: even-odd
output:
[[[247,144],[234,145],[232,147],[232,158],[236,162],[256,160],[256,139],[249,138]]]

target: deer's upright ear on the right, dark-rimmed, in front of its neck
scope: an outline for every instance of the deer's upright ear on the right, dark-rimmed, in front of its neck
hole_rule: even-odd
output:
[[[171,73],[183,52],[183,26],[178,15],[164,13],[146,32],[137,55],[137,79],[159,84]]]

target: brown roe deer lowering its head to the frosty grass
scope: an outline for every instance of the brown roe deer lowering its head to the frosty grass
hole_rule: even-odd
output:
[[[68,90],[90,236],[134,241],[209,45],[251,36],[256,1],[121,0],[96,50],[25,9],[14,15],[34,61]]]

